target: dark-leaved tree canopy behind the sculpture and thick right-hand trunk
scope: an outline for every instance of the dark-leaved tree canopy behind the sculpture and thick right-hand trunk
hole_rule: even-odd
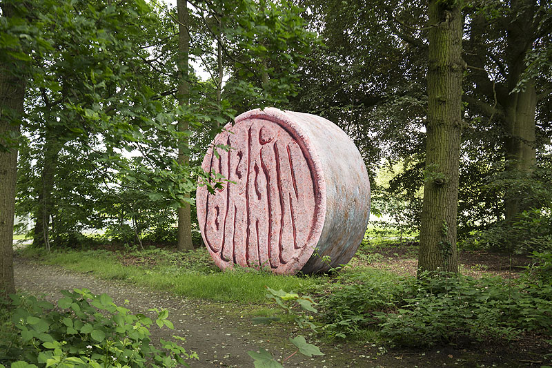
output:
[[[294,108],[323,115],[342,127],[373,175],[384,159],[389,168],[404,162],[405,170],[387,189],[373,187],[373,199],[386,197],[383,191],[395,197],[406,193],[408,208],[416,212],[415,193],[424,185],[422,126],[428,104],[424,82],[432,28],[422,3],[303,0],[302,4],[309,10],[309,26],[319,32],[326,47],[315,49],[304,61],[303,90],[294,99]],[[552,136],[552,7],[545,1],[482,0],[469,3],[462,13],[468,69],[462,95],[466,126],[461,139],[458,230],[465,240],[474,230],[489,229],[504,217],[515,218],[517,211],[550,202],[550,196],[543,195],[547,185],[543,165]],[[532,81],[536,105],[530,103]],[[522,121],[535,129],[521,128]],[[536,161],[538,170],[527,166],[531,161]],[[411,226],[420,224],[417,216],[409,218]]]

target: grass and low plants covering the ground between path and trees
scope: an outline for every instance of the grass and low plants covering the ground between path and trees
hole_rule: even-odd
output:
[[[294,318],[267,305],[265,286],[286,295],[312,295],[319,302],[319,313],[308,320],[317,329],[311,335],[311,339],[316,336],[315,345],[319,339],[331,345],[345,339],[353,344],[370,342],[379,349],[378,354],[446,345],[477,349],[474,344],[480,342],[500,347],[530,344],[531,339],[536,345],[550,346],[546,345],[551,340],[552,323],[549,253],[510,259],[464,252],[462,269],[470,275],[417,279],[416,251],[415,243],[366,243],[349,264],[330,275],[293,277],[244,269],[223,273],[204,249],[186,253],[112,248],[45,253],[27,249],[19,255],[176,295],[242,304],[241,318],[246,314],[253,320],[281,319],[279,323],[284,325],[293,324]],[[520,264],[526,264],[525,268]],[[273,360],[271,355],[268,359],[270,351],[255,354],[259,361]],[[542,352],[535,354],[540,357],[535,361],[549,359]]]

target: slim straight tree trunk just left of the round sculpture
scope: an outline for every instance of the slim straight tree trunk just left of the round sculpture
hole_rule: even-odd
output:
[[[178,78],[178,103],[187,105],[190,95],[190,86],[188,84],[188,54],[190,52],[190,36],[188,35],[188,1],[177,1],[178,12],[178,57],[177,66],[179,70]],[[180,119],[178,122],[179,132],[188,130],[186,119]],[[188,165],[188,156],[184,147],[188,145],[188,139],[182,138],[178,148],[178,163]],[[192,220],[190,213],[190,204],[183,201],[178,209],[178,243],[179,251],[194,249],[192,242]]]

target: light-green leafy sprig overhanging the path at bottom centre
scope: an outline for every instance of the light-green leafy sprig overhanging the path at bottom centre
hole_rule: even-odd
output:
[[[266,298],[270,300],[274,300],[276,304],[284,309],[286,313],[290,314],[294,317],[295,323],[300,328],[303,328],[305,326],[311,327],[314,331],[315,325],[311,320],[313,320],[312,316],[307,316],[306,312],[310,311],[313,313],[317,313],[317,310],[315,307],[313,307],[313,304],[315,302],[308,296],[299,296],[296,293],[286,293],[286,291],[283,291],[282,289],[279,289],[278,291],[274,289],[270,289],[270,287],[266,287],[268,290],[268,294],[266,294]],[[301,314],[297,315],[295,311],[293,310],[293,304],[300,307]],[[269,325],[272,322],[275,322],[279,320],[279,318],[276,317],[255,317],[252,319],[253,323],[260,323],[263,325]],[[297,350],[290,354],[287,358],[282,360],[282,362],[285,362],[288,360],[291,356],[294,354],[297,354],[297,352],[308,356],[322,356],[324,353],[320,351],[319,347],[309,344],[306,342],[305,338],[303,336],[296,336],[295,338],[290,338],[290,342],[297,347]],[[248,351],[247,354],[254,360],[255,368],[278,368],[283,367],[277,360],[275,360],[270,354],[269,351],[266,351],[265,349],[261,349],[258,353],[255,351]]]

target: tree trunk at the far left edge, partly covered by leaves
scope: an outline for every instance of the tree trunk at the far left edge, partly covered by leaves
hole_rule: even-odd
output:
[[[2,6],[3,17],[12,7]],[[17,184],[17,137],[23,115],[26,80],[18,61],[0,63],[0,296],[15,292],[13,223]],[[14,139],[12,139],[14,138]]]

